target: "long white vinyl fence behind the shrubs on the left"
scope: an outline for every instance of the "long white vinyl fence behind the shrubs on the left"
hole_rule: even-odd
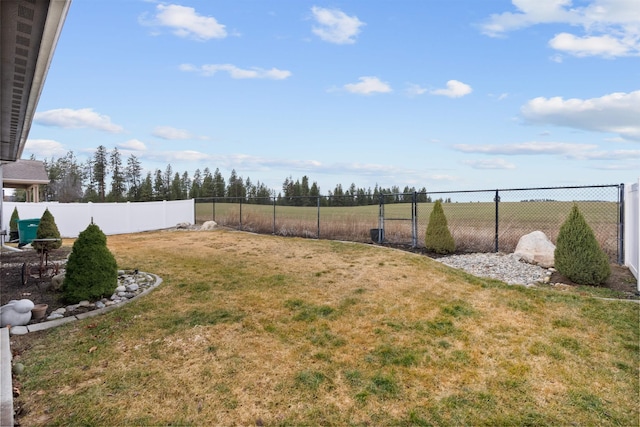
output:
[[[161,230],[179,223],[193,224],[194,200],[126,203],[16,203],[2,204],[2,224],[9,229],[13,208],[20,219],[40,218],[45,209],[53,215],[62,237],[78,237],[91,221],[106,235]]]

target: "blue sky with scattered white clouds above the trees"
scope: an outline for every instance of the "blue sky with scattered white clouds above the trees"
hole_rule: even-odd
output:
[[[637,182],[637,0],[73,0],[23,158],[323,194]]]

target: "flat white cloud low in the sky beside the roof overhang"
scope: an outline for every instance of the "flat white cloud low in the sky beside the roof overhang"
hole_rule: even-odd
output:
[[[36,113],[33,120],[45,126],[57,126],[66,129],[93,128],[111,133],[123,132],[122,126],[111,123],[111,118],[98,114],[91,108],[72,110],[59,108]]]

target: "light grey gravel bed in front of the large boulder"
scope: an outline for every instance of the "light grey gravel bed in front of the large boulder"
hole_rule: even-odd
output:
[[[553,273],[551,268],[543,268],[520,260],[514,254],[474,253],[451,255],[437,258],[449,267],[457,268],[478,277],[498,279],[510,285],[532,286],[548,283]]]

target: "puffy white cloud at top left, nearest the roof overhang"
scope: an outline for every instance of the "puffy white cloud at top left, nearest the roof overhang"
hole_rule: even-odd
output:
[[[225,26],[211,16],[202,16],[192,7],[177,4],[156,6],[156,15],[147,22],[141,17],[140,22],[145,25],[169,27],[178,37],[195,40],[222,39],[227,37]]]

